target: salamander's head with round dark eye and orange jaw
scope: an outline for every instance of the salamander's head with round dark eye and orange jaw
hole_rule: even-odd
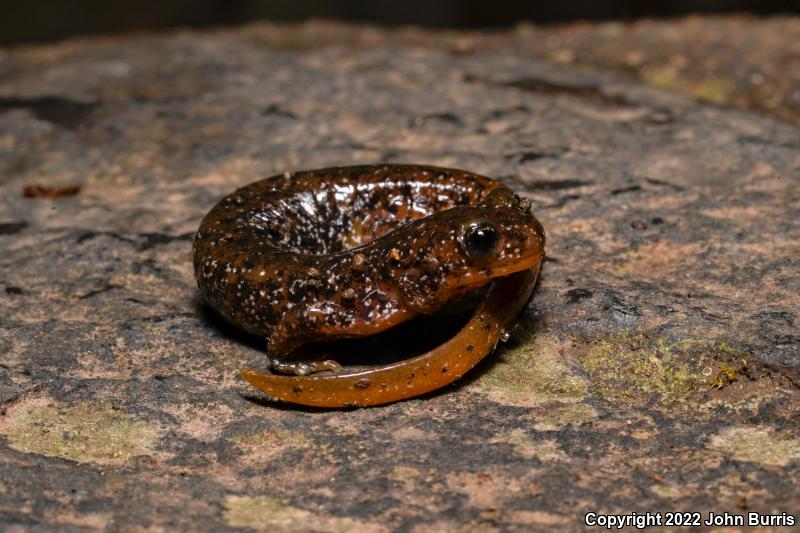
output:
[[[479,207],[457,207],[399,230],[390,250],[404,302],[420,313],[525,270],[544,255],[544,229],[530,203],[497,195]],[[416,230],[416,231],[415,231]],[[402,235],[402,236],[401,236]],[[409,238],[411,237],[411,238]]]

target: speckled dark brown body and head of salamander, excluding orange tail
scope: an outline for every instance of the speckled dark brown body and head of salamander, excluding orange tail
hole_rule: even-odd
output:
[[[470,249],[467,230],[496,230]],[[466,239],[466,241],[465,241]],[[485,243],[484,243],[485,245]],[[194,269],[208,302],[267,338],[273,368],[311,341],[372,335],[541,259],[544,232],[504,185],[426,166],[340,167],[274,176],[203,219]],[[485,246],[484,246],[485,247]]]

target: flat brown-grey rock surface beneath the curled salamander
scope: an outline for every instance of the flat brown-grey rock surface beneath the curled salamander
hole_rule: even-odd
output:
[[[0,529],[797,516],[798,33],[313,23],[0,50]],[[439,393],[270,401],[238,377],[263,345],[198,297],[193,232],[258,178],[377,162],[528,196],[533,301]]]

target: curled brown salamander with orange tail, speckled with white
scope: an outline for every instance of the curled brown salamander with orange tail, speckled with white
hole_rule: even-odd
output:
[[[458,379],[490,353],[530,297],[544,255],[530,201],[462,170],[334,167],[247,185],[205,216],[194,271],[226,320],[266,338],[274,373],[242,376],[282,400],[378,405]],[[299,361],[310,342],[363,337],[493,282],[450,340],[355,373]]]

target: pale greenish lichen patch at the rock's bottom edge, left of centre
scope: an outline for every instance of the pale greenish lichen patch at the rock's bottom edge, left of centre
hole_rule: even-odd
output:
[[[382,526],[365,524],[338,516],[322,516],[292,507],[267,496],[228,496],[225,499],[225,521],[231,527],[248,527],[275,532],[320,531],[338,533],[387,531]]]

